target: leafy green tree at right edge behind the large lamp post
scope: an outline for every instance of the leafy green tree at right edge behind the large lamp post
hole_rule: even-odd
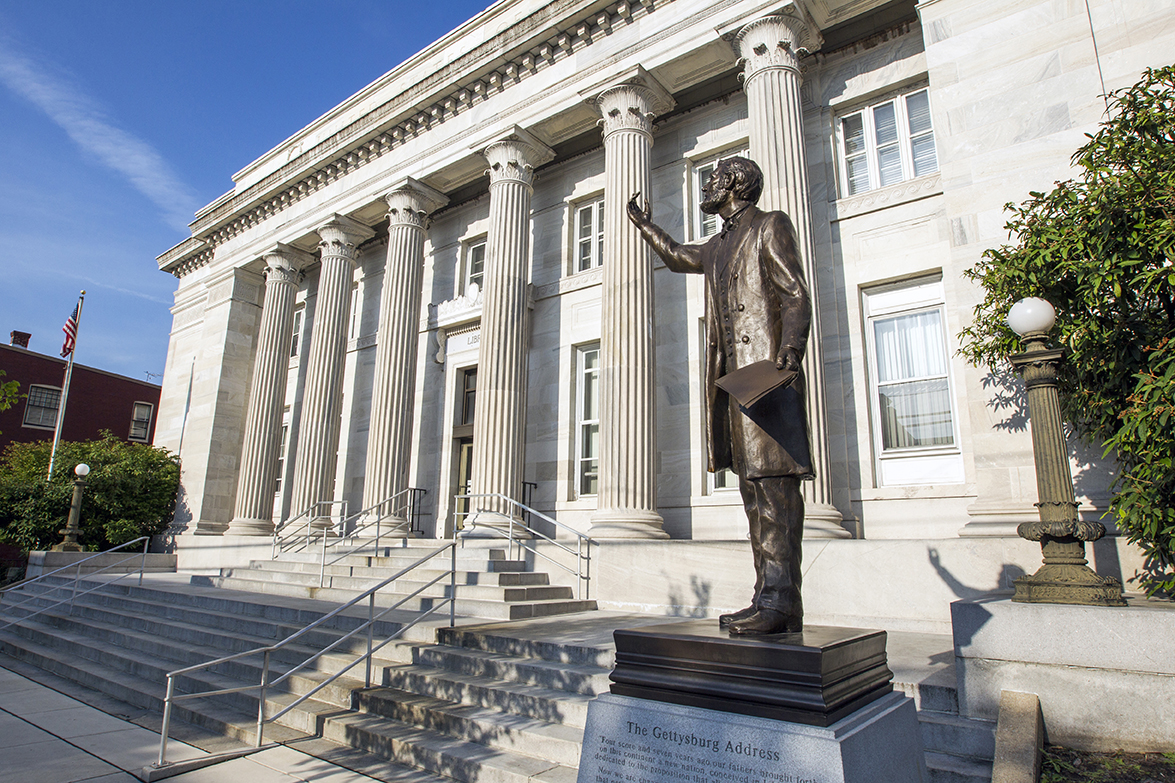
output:
[[[1006,326],[1025,296],[1058,310],[1061,406],[1117,460],[1110,513],[1148,558],[1148,593],[1175,590],[1175,66],[1109,96],[1076,176],[1008,205],[1014,243],[965,273],[986,289],[960,335],[999,373],[1020,350]],[[1055,333],[1054,333],[1055,334]]]

